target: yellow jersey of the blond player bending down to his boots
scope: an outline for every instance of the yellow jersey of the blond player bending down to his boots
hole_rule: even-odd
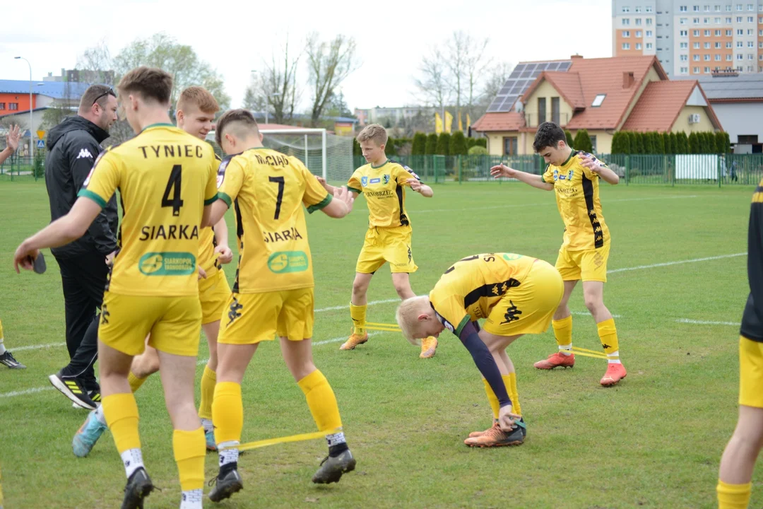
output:
[[[437,319],[459,336],[469,321],[488,317],[510,288],[521,285],[535,261],[532,256],[514,253],[483,253],[459,259],[430,292]]]

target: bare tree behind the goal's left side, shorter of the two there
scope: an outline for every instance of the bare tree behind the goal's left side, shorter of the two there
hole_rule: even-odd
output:
[[[301,88],[297,82],[297,69],[301,52],[289,52],[288,36],[281,49],[270,56],[270,61],[262,61],[262,67],[253,85],[246,89],[247,98],[258,111],[272,112],[275,124],[286,124],[294,118],[295,105],[301,98]]]

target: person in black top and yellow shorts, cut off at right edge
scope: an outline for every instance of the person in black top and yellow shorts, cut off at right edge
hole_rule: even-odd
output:
[[[739,420],[720,460],[719,509],[748,507],[763,448],[763,180],[750,205],[747,279],[750,293],[739,331]]]

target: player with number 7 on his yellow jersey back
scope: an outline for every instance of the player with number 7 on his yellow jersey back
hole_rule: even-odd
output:
[[[262,147],[262,134],[249,111],[227,111],[217,120],[215,136],[230,156],[221,164],[220,200],[212,205],[210,221],[235,206],[243,250],[217,338],[212,415],[220,472],[209,498],[221,501],[243,488],[237,471],[241,381],[259,342],[276,335],[315,424],[330,433],[329,457],[313,482],[337,482],[355,469],[356,461],[341,432],[333,390],[312,359],[313,261],[302,205],[310,212],[344,217],[352,210],[353,198],[342,188],[332,199],[299,159]]]

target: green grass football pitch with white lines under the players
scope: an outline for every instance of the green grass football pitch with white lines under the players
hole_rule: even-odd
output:
[[[431,199],[409,195],[420,267],[411,277],[415,292],[428,292],[454,261],[474,253],[555,261],[562,222],[551,192],[494,183],[449,183],[434,191]],[[491,413],[479,373],[456,337],[443,333],[430,360],[418,359],[418,350],[395,333],[378,333],[352,352],[338,350],[350,326],[365,201],[342,221],[314,214],[308,218],[314,357],[336,391],[358,469],[338,485],[316,486],[310,478],[324,441],[257,449],[239,463],[244,491],[221,507],[715,507],[717,466],[736,423],[751,195],[752,188],[602,189],[613,237],[605,302],[617,317],[629,375],[602,388],[604,361],[584,357],[574,369],[541,372],[533,362],[555,351],[552,331],[521,338],[508,353],[528,437],[523,446],[504,449],[462,443],[490,425]],[[5,507],[118,507],[124,469],[110,434],[88,458],[75,458],[71,438],[86,412],[72,409],[47,382],[67,361],[53,256],[46,250],[44,275],[12,271],[15,247],[50,219],[43,182],[0,183],[0,217],[0,318],[6,346],[28,366],[0,370]],[[234,267],[226,272],[232,281]],[[369,320],[394,321],[395,298],[383,268],[369,290]],[[581,289],[570,307],[575,343],[598,349]],[[256,353],[243,398],[244,441],[315,429],[277,343]],[[172,430],[158,377],[143,385],[137,401],[143,456],[163,488],[146,507],[178,507]],[[217,456],[210,455],[207,478],[216,472]],[[753,478],[761,481],[763,468]],[[761,506],[758,489],[750,507]]]

